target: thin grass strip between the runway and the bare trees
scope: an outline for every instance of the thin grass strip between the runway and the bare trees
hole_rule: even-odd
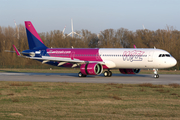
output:
[[[31,72],[31,73],[78,73],[79,68],[60,68],[60,69],[0,69],[0,72]],[[119,73],[118,69],[112,69],[113,73]],[[154,74],[153,70],[141,70],[139,74]],[[177,70],[159,70],[158,74],[180,74]]]

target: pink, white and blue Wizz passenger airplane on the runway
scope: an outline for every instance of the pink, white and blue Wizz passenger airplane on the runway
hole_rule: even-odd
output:
[[[153,69],[154,78],[159,78],[158,69],[170,68],[177,63],[167,51],[154,48],[48,48],[30,21],[25,21],[25,27],[29,49],[19,52],[13,45],[19,57],[58,67],[79,67],[79,77],[100,75],[104,70],[104,76],[111,77],[111,69],[119,69],[122,74]]]

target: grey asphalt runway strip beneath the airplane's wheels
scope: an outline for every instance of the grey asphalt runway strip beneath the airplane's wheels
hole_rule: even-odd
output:
[[[101,74],[98,76],[89,75],[79,78],[77,73],[0,73],[0,81],[180,84],[180,75],[160,74],[159,76],[159,78],[153,78],[153,74],[113,74],[112,77],[104,77],[103,74]]]

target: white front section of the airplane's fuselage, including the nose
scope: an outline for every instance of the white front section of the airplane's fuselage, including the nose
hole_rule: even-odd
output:
[[[161,49],[100,48],[99,54],[108,68],[169,68],[177,61]]]

